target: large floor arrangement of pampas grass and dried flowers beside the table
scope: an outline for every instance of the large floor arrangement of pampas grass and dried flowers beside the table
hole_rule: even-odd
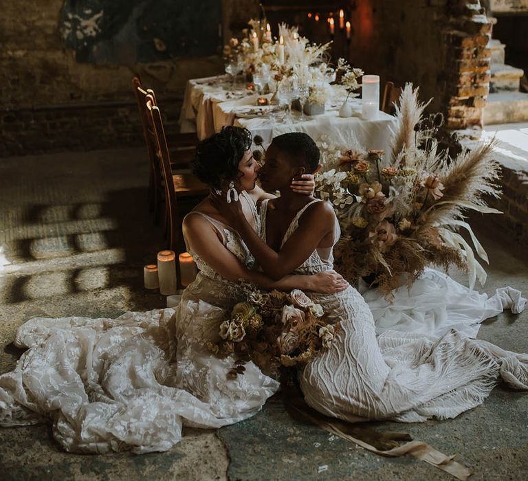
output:
[[[316,194],[331,201],[342,228],[336,269],[350,282],[364,278],[379,285],[388,299],[428,265],[464,269],[471,289],[476,279],[485,282],[476,256],[487,262],[487,255],[463,212],[500,213],[485,203],[486,196],[499,194],[492,144],[450,158],[435,138],[443,118],[423,118],[426,105],[418,89],[406,85],[387,155],[353,141],[333,146],[320,139]],[[476,255],[461,229],[470,234]]]

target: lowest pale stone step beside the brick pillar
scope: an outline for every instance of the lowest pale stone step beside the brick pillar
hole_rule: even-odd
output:
[[[496,92],[487,96],[484,124],[508,124],[528,121],[528,93]]]

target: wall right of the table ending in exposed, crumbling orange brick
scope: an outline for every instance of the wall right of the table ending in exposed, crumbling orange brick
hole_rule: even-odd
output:
[[[478,0],[358,0],[349,58],[382,85],[412,82],[450,128],[480,125],[489,91],[492,23]]]

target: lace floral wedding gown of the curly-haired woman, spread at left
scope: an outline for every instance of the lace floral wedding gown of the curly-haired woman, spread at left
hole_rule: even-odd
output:
[[[259,218],[248,194],[256,229]],[[223,245],[250,267],[236,232],[203,215]],[[115,320],[32,319],[15,344],[28,348],[0,376],[0,425],[53,423],[67,451],[164,451],[181,439],[181,425],[221,427],[258,412],[278,390],[254,363],[228,377],[234,359],[212,355],[218,326],[236,299],[236,284],[191,252],[200,269],[175,309],[125,313]]]

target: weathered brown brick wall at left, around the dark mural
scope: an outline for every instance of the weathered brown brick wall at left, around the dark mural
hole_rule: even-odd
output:
[[[131,79],[155,89],[177,128],[186,80],[214,75],[221,59],[133,65],[77,63],[58,30],[63,0],[3,2],[0,16],[0,157],[137,144],[142,128]]]

